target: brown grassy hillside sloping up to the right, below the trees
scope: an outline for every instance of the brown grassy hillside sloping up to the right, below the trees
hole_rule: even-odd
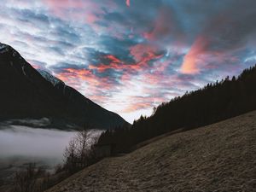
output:
[[[47,192],[256,189],[256,111],[106,158]]]

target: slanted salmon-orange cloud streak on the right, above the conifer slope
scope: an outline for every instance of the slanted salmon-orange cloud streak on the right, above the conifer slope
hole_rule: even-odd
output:
[[[200,57],[206,53],[207,40],[203,37],[197,38],[189,49],[189,53],[184,56],[181,72],[185,74],[195,74],[200,72]]]

